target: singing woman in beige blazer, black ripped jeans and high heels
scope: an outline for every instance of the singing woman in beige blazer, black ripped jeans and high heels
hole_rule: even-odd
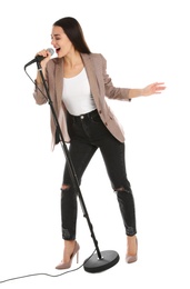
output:
[[[53,102],[63,139],[69,144],[70,157],[79,185],[82,175],[97,149],[100,149],[119,208],[127,236],[126,261],[138,259],[134,200],[124,163],[124,136],[114,114],[106,102],[109,99],[130,101],[140,96],[151,96],[164,90],[163,82],[143,89],[116,88],[107,74],[107,61],[100,53],[92,53],[87,46],[79,22],[62,18],[52,26],[51,44],[57,58],[50,59],[48,50],[38,56]],[[38,71],[34,99],[47,103],[46,91]],[[42,92],[42,93],[41,93]],[[59,142],[51,116],[52,144]],[[68,269],[78,256],[76,241],[77,193],[66,163],[61,187],[61,223],[64,241],[63,256],[57,269]]]

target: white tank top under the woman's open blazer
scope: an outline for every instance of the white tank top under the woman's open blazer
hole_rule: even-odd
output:
[[[96,109],[84,68],[76,77],[63,78],[62,100],[72,116],[80,116]]]

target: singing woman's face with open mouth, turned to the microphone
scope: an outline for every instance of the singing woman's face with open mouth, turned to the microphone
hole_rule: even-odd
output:
[[[69,40],[64,31],[59,26],[52,27],[51,44],[56,49],[59,58],[66,57],[73,50],[72,42]]]

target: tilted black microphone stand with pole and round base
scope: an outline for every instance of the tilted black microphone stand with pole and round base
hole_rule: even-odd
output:
[[[88,258],[83,262],[83,269],[87,272],[100,272],[100,271],[103,271],[103,270],[107,270],[107,269],[113,267],[119,261],[119,255],[116,251],[112,251],[112,250],[107,250],[107,251],[100,252],[100,249],[98,247],[98,241],[97,241],[94,232],[93,232],[93,227],[92,227],[92,223],[90,221],[89,213],[87,211],[86,203],[83,201],[82,193],[81,193],[81,190],[80,190],[80,187],[79,187],[77,175],[76,175],[70,155],[69,155],[69,150],[68,150],[68,147],[64,142],[62,131],[60,129],[59,121],[58,121],[58,118],[57,118],[57,114],[56,114],[56,111],[54,111],[54,108],[53,108],[53,103],[52,103],[52,100],[51,100],[50,94],[49,94],[47,82],[46,82],[43,73],[42,73],[40,61],[37,61],[37,67],[38,67],[38,70],[40,72],[40,76],[41,76],[41,79],[42,79],[42,82],[43,82],[43,86],[44,86],[44,89],[46,89],[46,92],[47,92],[48,103],[50,104],[51,112],[52,112],[52,116],[53,116],[53,119],[54,119],[54,122],[56,122],[56,126],[57,126],[57,129],[58,129],[58,132],[59,132],[60,143],[61,143],[64,157],[66,157],[68,165],[69,165],[70,176],[71,176],[71,179],[73,181],[73,186],[77,189],[77,193],[78,193],[78,197],[79,197],[79,201],[80,201],[80,205],[81,205],[83,217],[87,219],[87,222],[88,222],[88,226],[89,226],[89,229],[90,229],[90,232],[91,232],[91,237],[93,239],[93,243],[94,243],[94,247],[96,247],[96,250],[97,250],[97,253],[93,253],[92,257]],[[26,69],[26,67],[24,67],[24,69]]]

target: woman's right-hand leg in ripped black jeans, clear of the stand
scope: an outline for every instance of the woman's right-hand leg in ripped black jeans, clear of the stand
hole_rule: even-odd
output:
[[[137,255],[137,228],[134,200],[126,172],[124,143],[110,138],[109,144],[101,146],[101,153],[107,167],[113,190],[117,192],[119,208],[127,235],[127,256]]]

